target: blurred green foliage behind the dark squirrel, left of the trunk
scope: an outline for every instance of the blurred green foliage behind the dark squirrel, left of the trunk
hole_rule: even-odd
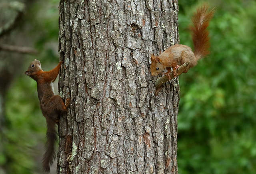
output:
[[[25,56],[24,66],[20,65],[22,70],[16,74],[6,94],[6,117],[0,134],[3,148],[0,166],[6,174],[39,174],[43,173],[41,160],[46,140],[46,121],[40,110],[36,81],[24,72],[35,58],[41,61],[43,70],[50,70],[58,63],[59,1],[20,1],[25,4],[26,10],[16,30],[28,40],[28,45],[24,46],[33,45],[40,53]],[[14,38],[14,43],[17,41],[13,33],[10,38]],[[58,82],[55,83],[55,88],[56,84]]]

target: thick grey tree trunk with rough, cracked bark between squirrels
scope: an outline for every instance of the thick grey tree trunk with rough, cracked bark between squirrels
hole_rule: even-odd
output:
[[[178,0],[60,0],[57,173],[178,173],[178,79],[156,90],[150,55],[178,39]]]

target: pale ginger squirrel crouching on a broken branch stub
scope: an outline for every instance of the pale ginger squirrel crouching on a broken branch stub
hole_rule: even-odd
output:
[[[190,26],[190,31],[192,32],[192,40],[194,44],[194,52],[192,49],[186,45],[176,44],[167,48],[159,56],[152,54],[151,56],[151,74],[152,76],[157,76],[165,68],[168,70],[166,75],[170,79],[170,71],[172,67],[173,75],[176,77],[176,70],[179,66],[186,62],[190,62],[187,70],[196,66],[197,61],[200,58],[210,54],[208,49],[210,48],[210,37],[209,32],[206,30],[209,26],[210,20],[214,16],[214,8],[208,11],[208,6],[204,4],[196,10],[194,16],[192,17],[192,26]]]

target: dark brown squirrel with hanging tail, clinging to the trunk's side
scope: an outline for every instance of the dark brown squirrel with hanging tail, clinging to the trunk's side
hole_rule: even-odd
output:
[[[41,68],[40,61],[35,59],[25,72],[26,75],[36,80],[40,108],[42,110],[42,114],[46,118],[47,142],[45,145],[46,151],[42,160],[42,166],[45,172],[50,172],[50,165],[52,165],[56,158],[54,147],[58,138],[55,124],[58,122],[59,114],[68,111],[70,103],[70,98],[68,98],[65,105],[62,98],[55,95],[53,91],[52,82],[57,78],[62,63],[63,61],[60,61],[53,70],[45,72]]]

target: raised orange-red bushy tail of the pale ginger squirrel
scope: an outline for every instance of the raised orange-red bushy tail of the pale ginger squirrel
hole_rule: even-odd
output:
[[[210,54],[210,37],[209,32],[206,29],[214,16],[215,9],[213,8],[208,12],[208,8],[209,7],[206,4],[198,8],[192,17],[193,25],[190,26],[194,43],[194,54],[197,60]]]

